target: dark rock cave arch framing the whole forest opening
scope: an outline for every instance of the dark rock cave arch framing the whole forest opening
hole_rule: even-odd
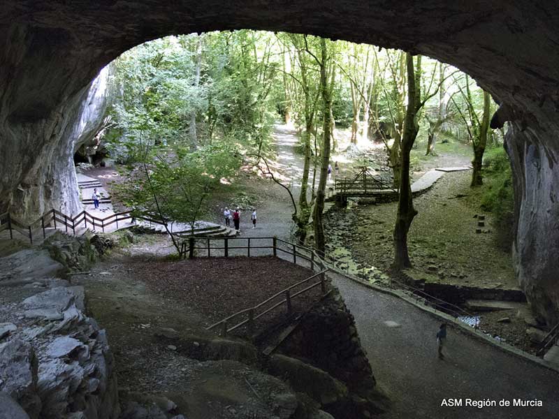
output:
[[[518,280],[559,320],[559,5],[528,0],[4,0],[0,10],[0,212],[77,212],[75,120],[99,70],[170,34],[266,29],[397,47],[472,75],[507,105]],[[62,163],[61,163],[62,162]],[[538,164],[533,164],[538,163]]]

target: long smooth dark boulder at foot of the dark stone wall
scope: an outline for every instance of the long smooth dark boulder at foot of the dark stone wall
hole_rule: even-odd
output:
[[[295,358],[273,355],[268,368],[273,375],[286,378],[293,389],[306,393],[323,406],[340,402],[348,395],[344,383]]]

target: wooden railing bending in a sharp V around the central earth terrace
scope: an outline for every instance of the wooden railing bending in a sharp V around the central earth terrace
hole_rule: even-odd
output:
[[[269,244],[255,246],[254,242],[256,240],[265,241]],[[235,243],[239,241],[246,241],[247,244],[243,246]],[[219,245],[219,242],[222,242],[221,246]],[[231,245],[231,242],[235,245]],[[199,243],[203,243],[204,245],[198,246],[197,244]],[[215,243],[218,245],[212,246],[212,244]],[[298,295],[308,293],[318,286],[320,286],[322,295],[326,294],[328,291],[326,272],[328,272],[329,268],[318,256],[317,252],[313,249],[309,249],[308,247],[286,242],[285,240],[278,239],[277,237],[189,237],[188,240],[184,240],[182,242],[180,254],[182,257],[186,257],[188,255],[190,258],[193,258],[195,254],[194,251],[198,250],[203,253],[203,256],[207,257],[229,257],[233,256],[232,251],[240,250],[240,252],[235,252],[238,253],[239,256],[240,253],[246,256],[256,256],[254,254],[254,250],[256,249],[270,249],[270,256],[278,256],[282,253],[287,254],[289,255],[289,261],[295,263],[296,265],[304,265],[305,267],[310,266],[310,269],[316,273],[306,279],[303,279],[303,281],[299,281],[296,284],[283,289],[282,291],[278,291],[267,300],[256,304],[254,307],[242,309],[237,311],[235,314],[231,314],[231,316],[210,325],[207,330],[219,327],[222,336],[226,336],[229,332],[233,332],[233,330],[247,325],[249,335],[253,335],[255,330],[255,321],[261,318],[261,316],[264,316],[270,311],[278,309],[283,305],[286,307],[287,314],[292,314],[293,307],[291,300],[293,300],[293,298]],[[305,288],[295,291],[296,288],[303,285],[306,285]],[[270,307],[268,307],[268,305],[270,305]],[[242,317],[242,320],[234,323],[233,319],[237,319],[239,317]]]

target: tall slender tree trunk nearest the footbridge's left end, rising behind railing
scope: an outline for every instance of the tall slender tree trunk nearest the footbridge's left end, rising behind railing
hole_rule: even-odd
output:
[[[312,216],[312,223],[314,227],[314,246],[319,253],[324,254],[326,250],[326,243],[324,240],[324,225],[322,223],[324,212],[324,198],[326,196],[326,179],[328,179],[328,164],[330,163],[330,109],[332,107],[332,94],[328,87],[328,78],[326,76],[326,66],[328,64],[328,50],[326,49],[326,40],[321,38],[321,62],[320,62],[320,88],[322,94],[322,101],[324,104],[324,125],[322,140],[323,145],[321,149],[321,168],[319,186],[317,189],[317,199],[314,203],[314,213]],[[332,71],[334,68],[332,67]]]

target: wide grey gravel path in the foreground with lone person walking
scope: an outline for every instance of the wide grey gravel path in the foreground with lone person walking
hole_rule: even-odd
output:
[[[440,320],[391,295],[330,275],[355,316],[379,385],[393,400],[386,418],[556,418],[559,375],[449,328],[437,358]],[[387,321],[394,323],[385,323]],[[462,407],[441,406],[462,399]],[[465,406],[466,399],[541,400],[542,407]]]

